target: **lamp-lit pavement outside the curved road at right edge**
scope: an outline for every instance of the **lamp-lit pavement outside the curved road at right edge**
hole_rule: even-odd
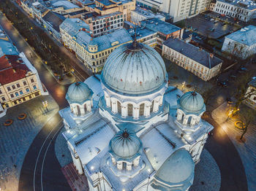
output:
[[[241,136],[241,130],[235,127],[234,123],[235,119],[231,118],[227,120],[227,110],[230,106],[227,106],[227,102],[220,105],[217,109],[211,113],[211,116],[214,120],[225,130],[227,136],[229,136],[230,140],[235,145],[242,163],[244,165],[244,169],[246,172],[247,184],[249,191],[256,190],[256,125],[250,125],[244,138],[246,139],[245,143],[238,141],[238,137]],[[227,120],[227,122],[226,122]]]

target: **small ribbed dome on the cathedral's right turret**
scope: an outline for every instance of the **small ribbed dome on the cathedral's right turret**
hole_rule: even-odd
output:
[[[179,105],[188,112],[200,112],[204,107],[204,101],[199,93],[187,92],[179,99]]]

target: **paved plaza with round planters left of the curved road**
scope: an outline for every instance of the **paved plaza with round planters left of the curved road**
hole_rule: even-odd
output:
[[[42,106],[48,101],[48,111]],[[12,107],[0,118],[0,188],[5,191],[18,190],[18,179],[26,152],[39,130],[56,112],[59,106],[50,95],[39,96],[31,101]],[[18,120],[18,114],[26,113],[24,120]],[[4,122],[12,119],[10,126]]]

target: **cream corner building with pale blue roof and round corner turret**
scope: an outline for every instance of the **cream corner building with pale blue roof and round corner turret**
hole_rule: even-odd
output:
[[[93,39],[89,25],[76,18],[64,20],[60,31],[65,47],[75,52],[80,61],[94,73],[103,69],[108,55],[116,47],[132,42],[132,37],[124,28]]]

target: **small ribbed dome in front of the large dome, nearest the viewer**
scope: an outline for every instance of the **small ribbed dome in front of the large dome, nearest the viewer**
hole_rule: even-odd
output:
[[[141,147],[141,141],[131,130],[120,130],[110,141],[110,149],[118,157],[132,157]]]

